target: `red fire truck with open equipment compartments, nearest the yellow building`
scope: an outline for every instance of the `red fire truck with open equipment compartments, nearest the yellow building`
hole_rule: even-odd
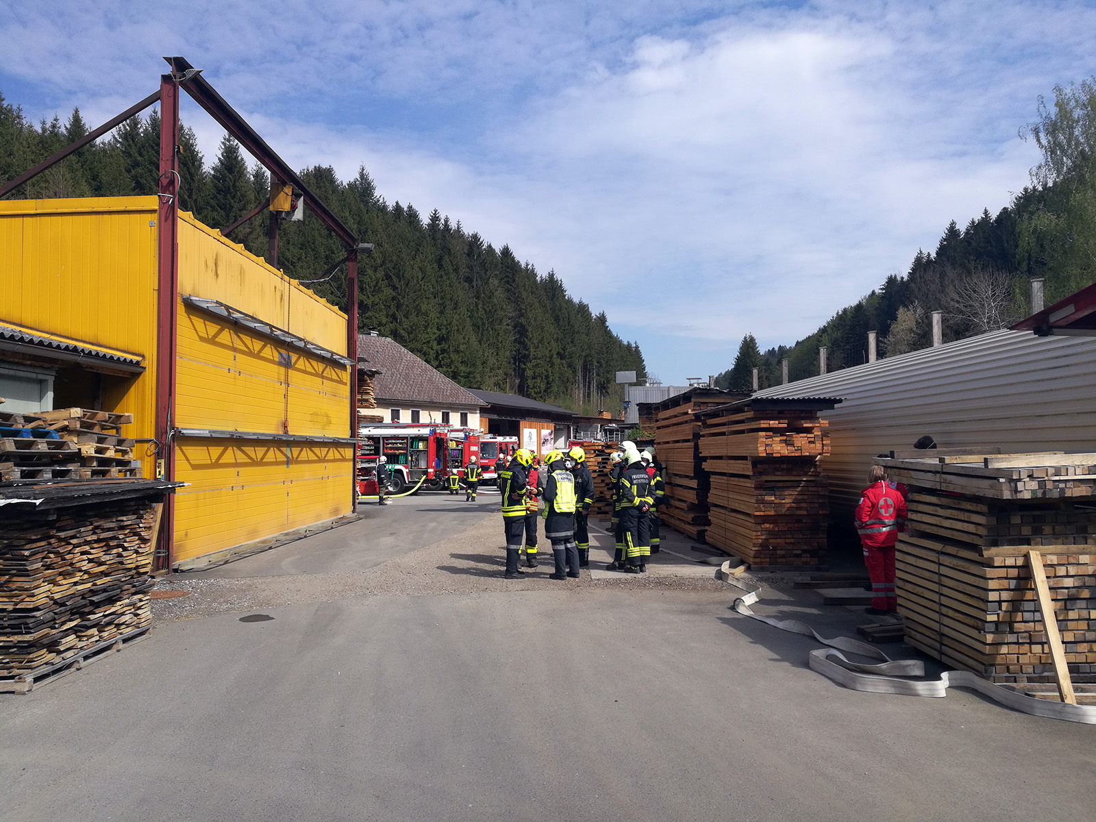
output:
[[[479,459],[479,431],[452,425],[381,423],[357,430],[358,484],[377,470],[379,458],[387,460],[387,489],[398,494],[423,480],[429,491],[445,487],[452,468]]]

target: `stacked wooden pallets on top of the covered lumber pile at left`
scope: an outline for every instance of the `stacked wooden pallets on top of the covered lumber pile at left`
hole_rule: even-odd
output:
[[[121,434],[133,414],[66,408],[0,411],[0,481],[139,477],[134,441]]]

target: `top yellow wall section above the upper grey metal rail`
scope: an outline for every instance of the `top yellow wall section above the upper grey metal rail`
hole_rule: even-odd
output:
[[[185,212],[179,219],[179,292],[220,300],[346,354],[346,315]]]

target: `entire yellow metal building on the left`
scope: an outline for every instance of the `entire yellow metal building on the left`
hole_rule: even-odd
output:
[[[350,513],[346,316],[186,213],[157,453],[157,215],[156,196],[0,201],[0,386],[38,375],[41,410],[134,414],[145,476],[190,483],[174,564]]]

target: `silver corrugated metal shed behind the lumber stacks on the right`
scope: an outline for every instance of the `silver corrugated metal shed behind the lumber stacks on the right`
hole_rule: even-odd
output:
[[[841,397],[824,460],[837,515],[847,516],[871,459],[912,448],[1096,450],[1096,338],[993,331],[936,349],[767,388],[757,397]]]

